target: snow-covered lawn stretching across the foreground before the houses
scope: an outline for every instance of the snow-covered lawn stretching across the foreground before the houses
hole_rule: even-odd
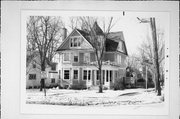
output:
[[[126,90],[68,90],[47,89],[46,97],[39,89],[27,89],[27,104],[49,104],[49,105],[147,105],[162,103],[163,97],[157,96],[153,89],[126,89]]]

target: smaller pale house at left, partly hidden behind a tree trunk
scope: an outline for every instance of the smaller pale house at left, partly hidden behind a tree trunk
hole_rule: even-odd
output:
[[[26,88],[39,88],[42,78],[40,58],[36,55],[30,62],[27,62],[26,68]],[[59,83],[59,77],[57,72],[57,63],[52,63],[51,66],[47,66],[44,73],[46,87],[57,86]]]

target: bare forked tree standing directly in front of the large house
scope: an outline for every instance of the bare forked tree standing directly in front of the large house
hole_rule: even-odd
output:
[[[97,60],[96,67],[98,68],[99,72],[102,72],[103,57],[104,57],[105,45],[106,45],[105,43],[106,43],[107,36],[113,26],[112,24],[113,17],[109,18],[107,26],[105,26],[106,23],[104,20],[103,22],[104,31],[102,31],[102,29],[97,24],[97,20],[98,20],[97,17],[79,17],[79,20],[81,23],[81,29],[88,32],[89,34],[89,41],[91,42],[93,46],[96,60]],[[101,78],[102,77],[101,73],[99,73],[98,77],[100,79],[99,93],[102,93],[103,81]]]

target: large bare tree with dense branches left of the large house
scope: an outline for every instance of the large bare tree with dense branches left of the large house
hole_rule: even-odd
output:
[[[27,21],[27,65],[39,56],[41,71],[51,65],[61,37],[63,23],[60,17],[30,16]],[[41,90],[45,80],[41,79]],[[44,86],[45,87],[45,86]]]

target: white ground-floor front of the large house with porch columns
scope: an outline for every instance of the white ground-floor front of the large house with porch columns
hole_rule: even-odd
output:
[[[95,67],[73,67],[62,68],[60,77],[61,82],[65,81],[67,85],[84,85],[87,88],[99,85],[99,70]],[[101,81],[104,87],[110,89],[115,80],[120,78],[120,70],[112,67],[103,67],[101,70]],[[63,84],[61,84],[63,85]]]

